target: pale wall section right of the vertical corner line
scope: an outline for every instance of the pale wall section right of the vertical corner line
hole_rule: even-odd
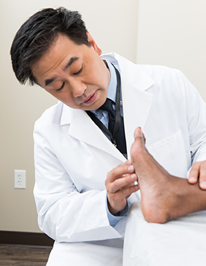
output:
[[[206,1],[139,0],[137,63],[181,69],[206,101]]]

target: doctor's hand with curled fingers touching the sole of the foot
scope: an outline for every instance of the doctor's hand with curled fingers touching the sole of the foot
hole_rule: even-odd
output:
[[[105,186],[108,199],[108,210],[111,214],[116,214],[120,210],[124,210],[126,206],[126,199],[130,197],[133,192],[139,190],[137,185],[137,175],[135,168],[128,160],[124,164],[113,168],[108,172]]]

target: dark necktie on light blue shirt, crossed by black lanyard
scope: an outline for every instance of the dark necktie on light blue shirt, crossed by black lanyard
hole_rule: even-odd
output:
[[[115,119],[116,119],[116,111],[113,109],[113,102],[111,99],[106,99],[106,102],[99,109],[108,111],[108,130],[113,135],[114,127],[115,127]],[[117,135],[115,137],[115,142],[118,150],[126,157],[126,140],[124,133],[124,119],[121,116],[121,124],[119,126],[119,130],[117,131]]]

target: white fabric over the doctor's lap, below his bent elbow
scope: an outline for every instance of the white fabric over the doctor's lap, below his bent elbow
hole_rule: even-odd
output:
[[[54,243],[47,266],[122,266],[121,239]]]

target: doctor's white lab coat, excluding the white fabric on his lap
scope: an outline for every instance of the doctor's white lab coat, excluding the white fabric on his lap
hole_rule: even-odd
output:
[[[206,159],[205,102],[178,70],[135,65],[117,54],[104,58],[118,62],[121,71],[128,157],[141,126],[155,159],[172,175],[186,177],[192,160]],[[115,228],[108,222],[104,181],[125,158],[86,112],[62,102],[45,111],[34,128],[34,159],[43,232],[57,243],[124,236],[126,218]],[[130,203],[139,195],[133,194]]]

